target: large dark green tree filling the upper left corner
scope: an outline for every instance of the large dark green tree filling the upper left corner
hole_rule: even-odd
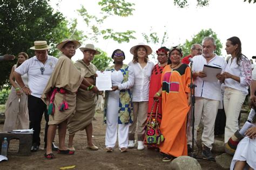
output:
[[[47,0],[0,2],[0,53],[17,56],[19,52],[26,52],[29,56],[33,56],[33,51],[29,48],[33,46],[35,40],[47,40],[48,44],[55,47],[64,38],[79,37],[82,32],[75,29],[76,20],[67,22],[62,13],[53,12],[48,2]],[[49,53],[56,56],[57,51],[52,48]],[[0,62],[0,86],[8,82],[11,67],[16,61],[17,59]]]

